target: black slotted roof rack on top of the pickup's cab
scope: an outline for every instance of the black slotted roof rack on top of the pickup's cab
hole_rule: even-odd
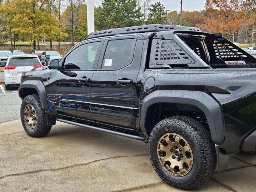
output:
[[[117,34],[131,34],[131,33],[144,33],[144,32],[158,32],[158,31],[201,31],[200,28],[196,27],[184,27],[184,26],[172,26],[172,25],[142,25],[142,26],[134,26],[134,27],[124,27],[117,29],[108,29],[97,32],[90,33],[84,40],[96,38],[96,37],[104,37],[110,35]]]

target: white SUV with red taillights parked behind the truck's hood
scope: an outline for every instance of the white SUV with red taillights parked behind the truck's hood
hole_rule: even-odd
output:
[[[20,85],[20,77],[32,69],[42,67],[42,64],[36,55],[11,55],[8,57],[4,67],[5,89]]]

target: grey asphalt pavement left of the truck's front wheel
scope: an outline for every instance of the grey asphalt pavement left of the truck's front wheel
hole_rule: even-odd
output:
[[[4,73],[0,72],[0,78]],[[20,118],[21,99],[18,90],[5,90],[4,85],[0,85],[0,123]]]

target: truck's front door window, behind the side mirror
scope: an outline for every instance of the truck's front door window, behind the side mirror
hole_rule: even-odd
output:
[[[65,58],[63,69],[66,70],[90,70],[100,46],[100,42],[83,44],[74,49]]]

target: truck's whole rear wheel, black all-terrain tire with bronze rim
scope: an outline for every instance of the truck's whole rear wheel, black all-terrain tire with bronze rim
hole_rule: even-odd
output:
[[[157,174],[176,188],[197,188],[212,176],[216,167],[209,130],[189,117],[176,116],[156,124],[148,150]]]

